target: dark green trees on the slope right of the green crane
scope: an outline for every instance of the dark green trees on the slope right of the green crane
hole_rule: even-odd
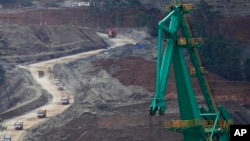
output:
[[[204,39],[204,45],[199,49],[203,65],[228,80],[250,80],[250,62],[242,57],[242,43],[223,37],[219,32],[220,12],[213,11],[205,0],[200,0],[196,6],[190,25],[193,35]]]

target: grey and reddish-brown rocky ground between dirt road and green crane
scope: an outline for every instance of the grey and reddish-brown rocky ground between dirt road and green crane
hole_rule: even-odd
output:
[[[179,117],[176,98],[166,101],[166,116],[148,114],[155,81],[155,47],[151,44],[155,41],[146,38],[142,42],[141,49],[129,44],[110,49],[108,55],[56,65],[54,71],[69,85],[75,103],[29,130],[25,140],[181,140],[181,135],[163,129],[164,121]],[[175,93],[173,80],[169,87],[168,93]],[[230,109],[236,123],[249,123],[247,104],[242,107],[230,100],[219,104]]]

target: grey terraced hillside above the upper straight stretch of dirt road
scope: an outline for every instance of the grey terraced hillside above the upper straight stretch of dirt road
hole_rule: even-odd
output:
[[[6,26],[0,38],[3,63],[47,60],[106,47],[94,29],[76,26]]]

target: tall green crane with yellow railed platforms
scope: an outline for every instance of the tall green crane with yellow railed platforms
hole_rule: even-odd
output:
[[[193,38],[187,14],[192,11],[191,4],[176,0],[175,5],[167,6],[168,15],[158,24],[156,92],[152,98],[150,115],[158,111],[164,115],[165,93],[171,63],[174,67],[176,90],[179,103],[180,120],[164,123],[170,131],[183,133],[184,141],[229,141],[229,125],[232,119],[222,107],[216,106],[209,87],[204,68],[201,67],[198,50],[201,38]],[[166,41],[166,46],[163,42]],[[183,49],[189,52],[193,68],[188,71]],[[206,106],[198,107],[191,76],[198,79]]]

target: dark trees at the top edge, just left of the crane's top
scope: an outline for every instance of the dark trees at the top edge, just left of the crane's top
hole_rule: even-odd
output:
[[[129,19],[134,21],[136,27],[147,27],[154,37],[157,36],[158,21],[161,17],[159,9],[146,9],[140,0],[106,0],[104,7],[92,6],[90,13],[93,17],[100,17],[99,23],[104,27],[123,27],[126,26],[125,20]],[[127,13],[129,15],[126,15]]]

